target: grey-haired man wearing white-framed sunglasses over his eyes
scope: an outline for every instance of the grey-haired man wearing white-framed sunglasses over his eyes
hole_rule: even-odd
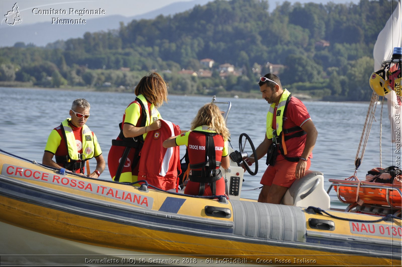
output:
[[[90,105],[85,99],[76,99],[70,109],[70,118],[54,128],[47,139],[42,163],[66,168],[74,173],[84,173],[84,163],[96,159],[96,168],[88,177],[98,178],[105,169],[105,160],[95,134],[85,125]],[[53,155],[55,160],[53,161]]]

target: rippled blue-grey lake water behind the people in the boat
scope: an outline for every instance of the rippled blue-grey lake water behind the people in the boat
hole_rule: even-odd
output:
[[[50,131],[57,127],[66,117],[72,101],[85,98],[91,104],[90,118],[87,125],[96,134],[103,156],[107,160],[111,140],[119,133],[118,124],[122,120],[127,105],[135,99],[132,93],[113,92],[80,92],[56,89],[24,89],[0,87],[0,148],[12,154],[29,160],[42,161],[43,150]],[[210,97],[186,97],[169,95],[168,103],[160,107],[162,117],[189,129],[190,123],[198,109],[210,102]],[[257,147],[265,135],[266,116],[269,108],[264,99],[229,99],[217,97],[219,101],[231,101],[232,109],[228,117],[228,128],[231,134],[231,145],[238,150],[238,138],[246,133]],[[304,101],[314,124],[318,130],[318,139],[313,150],[310,169],[324,173],[325,189],[330,183],[328,179],[345,179],[353,175],[355,157],[369,103],[340,103]],[[222,105],[226,111],[226,107]],[[371,134],[363,162],[358,169],[357,177],[364,179],[368,170],[379,167],[379,132],[381,105],[377,106],[376,121],[371,128]],[[390,123],[384,104],[382,126],[382,166],[395,165]],[[180,154],[184,154],[182,147]],[[256,176],[244,175],[242,197],[256,199],[260,190],[250,190],[260,187],[260,179],[266,165],[265,158],[259,161],[259,171]],[[96,166],[95,160],[90,160],[90,168]],[[101,176],[111,179],[109,170]],[[342,206],[334,191],[330,193],[331,206]]]

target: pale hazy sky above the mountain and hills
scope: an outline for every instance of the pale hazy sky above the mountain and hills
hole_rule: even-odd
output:
[[[146,12],[150,12],[152,10],[156,10],[163,6],[167,6],[174,2],[189,2],[190,0],[92,0],[92,1],[37,1],[37,0],[2,0],[0,3],[1,7],[1,23],[0,26],[5,25],[4,15],[7,14],[8,11],[12,10],[12,7],[17,2],[18,11],[23,16],[23,22],[25,25],[37,23],[37,22],[52,22],[52,17],[57,18],[57,16],[62,16],[63,18],[82,18],[82,19],[90,19],[90,18],[98,18],[101,16],[109,16],[119,14],[122,16],[135,16],[139,14],[143,14]],[[269,0],[270,10],[273,10],[277,4],[281,4],[283,0]],[[328,0],[289,0],[289,2],[328,2]],[[332,0],[335,3],[346,3],[346,2],[359,2],[359,0]],[[39,13],[39,10],[64,10],[66,11],[66,15],[62,14],[34,14]],[[104,10],[105,14],[100,15],[74,15],[69,14],[70,8],[74,10]]]

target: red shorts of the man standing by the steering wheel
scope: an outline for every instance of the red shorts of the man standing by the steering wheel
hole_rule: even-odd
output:
[[[310,168],[310,158],[307,159],[306,170]],[[285,159],[277,160],[274,166],[268,166],[260,184],[262,185],[280,185],[284,187],[290,187],[295,181],[297,162],[291,162]]]

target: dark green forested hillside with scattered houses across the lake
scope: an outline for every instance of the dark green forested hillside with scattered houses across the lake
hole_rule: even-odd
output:
[[[124,91],[157,71],[172,93],[240,95],[272,72],[295,94],[368,101],[374,43],[396,3],[284,2],[269,12],[267,0],[215,0],[46,49],[0,48],[0,83]]]

